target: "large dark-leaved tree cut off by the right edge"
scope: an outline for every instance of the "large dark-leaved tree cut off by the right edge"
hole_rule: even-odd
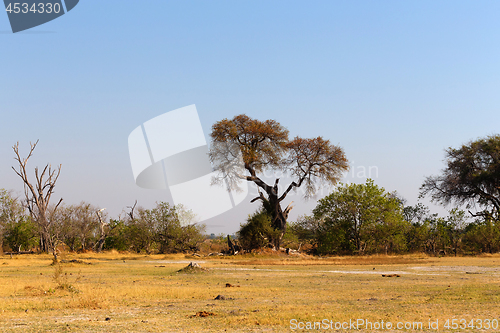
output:
[[[443,205],[475,207],[471,215],[500,221],[500,135],[448,148],[446,165],[441,175],[425,179],[420,195]]]

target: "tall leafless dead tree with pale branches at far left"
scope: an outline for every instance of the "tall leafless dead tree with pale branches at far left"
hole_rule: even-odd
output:
[[[54,213],[63,199],[59,199],[59,202],[53,208],[49,207],[49,203],[54,193],[56,181],[61,173],[61,165],[57,170],[54,170],[50,164],[47,164],[41,173],[38,167],[35,167],[35,183],[31,183],[28,179],[26,164],[33,155],[37,144],[38,140],[34,144],[30,143],[31,149],[28,156],[22,158],[19,154],[19,142],[17,142],[12,149],[16,154],[14,159],[18,162],[19,169],[16,170],[14,167],[12,169],[23,180],[26,206],[31,218],[39,227],[40,250],[47,253],[52,252],[54,260],[57,261],[57,236],[51,233],[51,225],[54,220]]]

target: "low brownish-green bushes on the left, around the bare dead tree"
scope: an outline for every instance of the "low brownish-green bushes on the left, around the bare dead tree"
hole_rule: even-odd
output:
[[[71,252],[103,250],[137,253],[177,253],[197,251],[206,238],[204,225],[183,223],[188,215],[182,206],[160,202],[152,209],[129,207],[129,212],[112,219],[86,202],[60,205],[48,229],[54,246]],[[19,199],[0,189],[0,250],[43,251],[37,224]],[[102,240],[102,241],[101,241]]]

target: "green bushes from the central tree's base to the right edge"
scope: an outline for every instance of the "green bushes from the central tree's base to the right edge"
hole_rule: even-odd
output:
[[[266,246],[274,232],[269,221],[265,209],[250,216],[239,231],[242,247]],[[458,208],[440,217],[422,203],[407,206],[397,193],[368,179],[365,184],[341,184],[319,200],[312,214],[290,223],[284,244],[317,255],[497,253],[500,223],[471,220]]]

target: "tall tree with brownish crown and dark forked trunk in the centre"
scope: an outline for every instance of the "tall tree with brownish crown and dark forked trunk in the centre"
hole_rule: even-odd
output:
[[[259,196],[252,202],[262,201],[271,216],[271,225],[279,230],[274,245],[279,248],[286,231],[291,205],[285,209],[281,203],[290,191],[305,187],[305,197],[315,194],[321,183],[337,183],[349,169],[341,147],[322,137],[288,138],[288,130],[275,120],[260,121],[244,114],[223,119],[212,126],[210,159],[219,177],[229,187],[237,189],[240,181],[252,182],[259,188]],[[263,179],[267,170],[280,171],[293,181],[280,193],[280,178],[274,184]]]

